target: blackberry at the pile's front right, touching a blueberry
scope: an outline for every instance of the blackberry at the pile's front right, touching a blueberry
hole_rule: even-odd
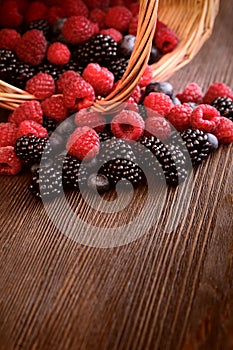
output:
[[[200,164],[208,157],[212,146],[208,134],[199,129],[187,129],[181,132],[180,136],[185,142],[193,166]]]

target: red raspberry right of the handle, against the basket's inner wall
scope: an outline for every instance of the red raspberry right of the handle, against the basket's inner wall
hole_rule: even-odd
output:
[[[176,33],[170,28],[161,27],[156,31],[154,44],[159,50],[162,51],[162,53],[166,54],[168,52],[172,52],[176,48],[178,38]]]

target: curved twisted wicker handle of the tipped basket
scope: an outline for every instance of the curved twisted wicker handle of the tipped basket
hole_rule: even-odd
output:
[[[156,28],[159,0],[140,0],[137,36],[127,69],[116,89],[94,104],[101,113],[114,113],[129,99],[147,66]]]

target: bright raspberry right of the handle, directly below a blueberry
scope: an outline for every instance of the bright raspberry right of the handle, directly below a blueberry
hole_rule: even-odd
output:
[[[173,107],[173,103],[170,97],[164,93],[151,92],[145,97],[144,106],[165,117]],[[147,111],[149,117],[155,115],[155,113],[152,111]]]

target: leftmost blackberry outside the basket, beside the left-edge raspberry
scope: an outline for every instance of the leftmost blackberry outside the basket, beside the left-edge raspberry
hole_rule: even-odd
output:
[[[15,145],[16,155],[27,165],[40,163],[44,152],[50,153],[51,147],[48,138],[24,135],[17,139]]]

